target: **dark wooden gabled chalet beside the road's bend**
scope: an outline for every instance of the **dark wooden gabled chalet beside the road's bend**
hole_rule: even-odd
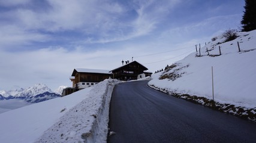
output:
[[[144,78],[146,76],[151,76],[152,74],[150,72],[145,72],[145,70],[148,69],[137,61],[132,61],[131,63],[127,61],[126,63],[127,64],[125,64],[124,66],[118,67],[117,69],[110,71],[113,74],[113,79],[136,80]]]

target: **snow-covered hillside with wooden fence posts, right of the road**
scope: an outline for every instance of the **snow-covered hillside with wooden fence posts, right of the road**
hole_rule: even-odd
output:
[[[237,36],[229,42],[224,42],[225,38],[218,36],[215,41],[201,48],[201,56],[199,51],[194,52],[167,70],[153,74],[149,85],[168,93],[195,95],[211,100],[213,67],[215,101],[254,109],[251,112],[256,113],[256,30],[240,32]]]

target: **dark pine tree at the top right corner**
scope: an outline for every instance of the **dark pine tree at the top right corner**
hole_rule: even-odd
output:
[[[256,29],[256,1],[245,0],[245,11],[243,11],[243,19],[241,21],[242,31],[248,32]]]

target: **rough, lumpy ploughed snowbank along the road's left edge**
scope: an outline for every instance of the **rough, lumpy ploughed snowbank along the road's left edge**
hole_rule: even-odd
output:
[[[118,80],[104,80],[36,142],[107,142],[109,105]]]

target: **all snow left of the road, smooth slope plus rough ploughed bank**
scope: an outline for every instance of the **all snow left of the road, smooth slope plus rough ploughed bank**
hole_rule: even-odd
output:
[[[106,142],[109,102],[118,80],[0,114],[1,142]]]

